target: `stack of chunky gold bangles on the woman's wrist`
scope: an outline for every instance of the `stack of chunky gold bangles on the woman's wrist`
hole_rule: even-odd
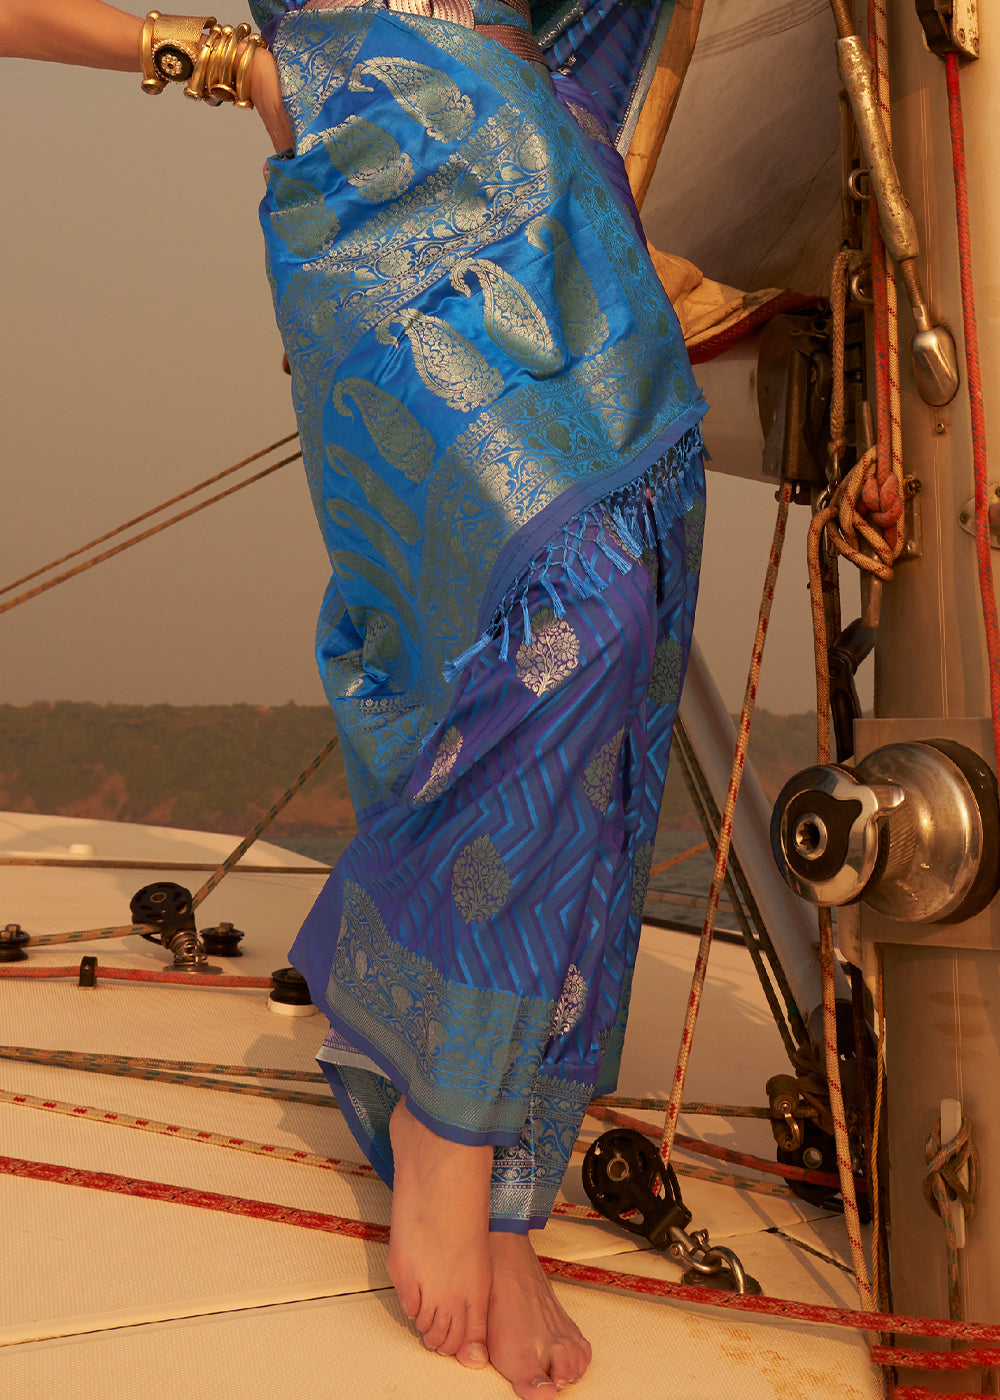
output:
[[[143,92],[162,92],[183,83],[183,95],[196,102],[252,108],[251,67],[265,48],[248,24],[216,24],[211,14],[160,14],[150,10],[140,43]]]

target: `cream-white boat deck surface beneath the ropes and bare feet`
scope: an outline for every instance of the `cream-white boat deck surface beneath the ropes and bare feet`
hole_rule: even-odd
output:
[[[104,858],[213,861],[232,841],[35,816],[0,818],[0,854],[64,854],[95,846]],[[307,864],[259,844],[254,862]],[[0,868],[0,923],[32,934],[127,920],[129,899],[151,879],[197,888],[204,875],[150,871]],[[287,962],[297,924],[322,875],[230,875],[199,911],[246,934],[225,970],[269,974]],[[647,928],[636,976],[620,1092],[665,1093],[696,944]],[[112,966],[158,967],[162,949],[137,938],[35,951],[21,966],[67,966],[95,953]],[[252,990],[73,980],[0,981],[0,1040],[57,1050],[315,1071],[319,1016],[287,1019]],[[688,1096],[763,1102],[783,1051],[742,949],[713,951]],[[0,1060],[0,1086],[325,1156],[357,1161],[333,1109],[111,1078]],[[324,1092],[322,1085],[290,1088]],[[4,1155],[197,1187],[385,1224],[388,1191],[371,1177],[336,1175],[112,1123],[0,1103]],[[599,1131],[588,1121],[588,1131]],[[699,1119],[682,1131],[773,1155],[766,1124]],[[682,1159],[682,1156],[679,1158]],[[737,1250],[765,1292],[854,1305],[839,1267],[840,1222],[796,1200],[683,1180],[695,1226]],[[567,1179],[583,1201],[578,1166]],[[0,1176],[0,1394],[17,1400],[239,1400],[366,1396],[501,1397],[496,1375],[468,1373],[427,1355],[401,1320],[385,1247],[336,1233],[223,1215],[168,1201]],[[779,1233],[772,1233],[777,1228]],[[798,1247],[801,1240],[826,1254]],[[556,1219],[539,1253],[676,1280],[671,1261],[611,1226]],[[866,1348],[850,1331],[756,1322],[557,1285],[594,1343],[576,1389],[587,1397],[683,1400],[854,1400],[878,1394]]]

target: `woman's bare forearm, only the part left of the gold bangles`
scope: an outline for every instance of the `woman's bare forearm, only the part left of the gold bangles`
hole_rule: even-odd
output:
[[[143,21],[102,0],[0,0],[0,57],[139,73]]]

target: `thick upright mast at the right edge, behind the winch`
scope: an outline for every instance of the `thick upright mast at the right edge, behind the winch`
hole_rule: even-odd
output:
[[[920,272],[937,321],[955,336],[962,384],[944,407],[923,402],[905,350],[913,323],[901,295],[902,442],[920,482],[922,553],[896,567],[882,596],[875,651],[875,714],[856,725],[863,757],[889,743],[951,739],[996,770],[983,616],[971,517],[972,431],[962,361],[962,295],[945,70],[923,42],[912,4],[891,7],[894,155],[916,217]],[[954,24],[958,25],[958,11]],[[975,17],[975,6],[972,6]],[[989,38],[989,36],[987,36]],[[1000,50],[986,43],[962,64],[969,214],[986,385],[987,440],[1000,448],[1000,188],[994,176]],[[901,287],[902,293],[902,287]],[[1000,479],[992,468],[990,480]],[[905,923],[860,909],[861,937],[885,967],[889,1057],[892,1281],[898,1312],[947,1316],[944,1229],[923,1194],[924,1140],[957,1099],[972,1124],[983,1189],[959,1252],[969,1319],[1000,1317],[1000,904],[961,923]],[[969,1389],[968,1378],[919,1383]]]

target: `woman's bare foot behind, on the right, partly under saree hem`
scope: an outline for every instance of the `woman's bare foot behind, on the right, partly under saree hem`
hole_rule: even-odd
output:
[[[590,1365],[590,1343],[542,1273],[527,1235],[490,1235],[490,1362],[521,1400],[553,1400]]]

